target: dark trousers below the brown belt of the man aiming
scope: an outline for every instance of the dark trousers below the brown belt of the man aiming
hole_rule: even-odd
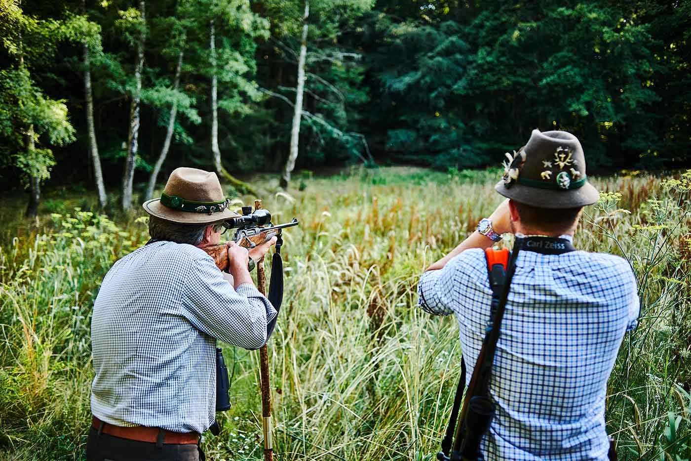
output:
[[[205,461],[204,453],[195,444],[163,444],[121,439],[98,434],[91,428],[86,442],[88,461]]]

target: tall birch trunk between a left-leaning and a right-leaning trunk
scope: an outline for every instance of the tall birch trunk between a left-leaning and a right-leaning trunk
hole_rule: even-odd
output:
[[[142,30],[137,42],[137,60],[135,62],[134,78],[135,91],[130,103],[129,134],[127,136],[127,156],[125,159],[124,176],[122,177],[122,209],[128,211],[132,206],[132,183],[134,181],[134,168],[139,151],[139,125],[140,125],[140,96],[142,93],[142,69],[144,68],[144,35],[146,27],[145,1],[140,0],[139,9],[142,14]]]

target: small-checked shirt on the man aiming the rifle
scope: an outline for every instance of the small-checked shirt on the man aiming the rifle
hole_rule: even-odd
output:
[[[202,433],[216,410],[216,338],[257,348],[276,310],[207,253],[153,242],[106,274],[91,319],[91,410],[116,426]]]

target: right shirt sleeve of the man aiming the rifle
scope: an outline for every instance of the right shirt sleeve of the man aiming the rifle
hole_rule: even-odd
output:
[[[182,292],[185,316],[200,331],[245,349],[266,342],[276,309],[252,284],[233,289],[211,257],[192,263]]]

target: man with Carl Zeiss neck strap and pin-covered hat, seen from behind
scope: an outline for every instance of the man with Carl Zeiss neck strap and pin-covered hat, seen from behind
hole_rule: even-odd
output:
[[[427,269],[419,305],[458,320],[468,364],[461,391],[486,347],[491,315],[503,309],[485,391],[495,413],[475,459],[607,460],[616,454],[608,453],[605,432],[607,379],[625,332],[636,325],[636,278],[623,258],[572,244],[583,207],[598,200],[576,136],[535,129],[506,155],[495,190],[507,200]],[[504,233],[515,235],[514,253],[520,251],[509,259],[501,307],[493,302],[499,298],[487,259],[498,253],[486,248]]]

